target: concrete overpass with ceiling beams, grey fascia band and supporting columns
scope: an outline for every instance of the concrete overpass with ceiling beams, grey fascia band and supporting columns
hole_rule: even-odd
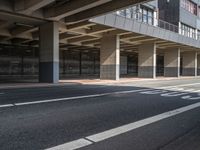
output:
[[[156,50],[170,57],[165,75],[179,76],[181,49],[191,55],[184,74],[197,75],[199,41],[111,13],[147,1],[2,0],[0,43],[40,47],[40,82],[59,81],[59,49],[101,49],[100,78],[115,80],[119,79],[120,51],[139,53],[141,49],[139,76],[154,78]],[[166,52],[169,49],[174,51]]]

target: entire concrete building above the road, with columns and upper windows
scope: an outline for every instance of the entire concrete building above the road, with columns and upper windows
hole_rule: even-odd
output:
[[[197,76],[200,3],[143,2],[0,1],[0,81]]]

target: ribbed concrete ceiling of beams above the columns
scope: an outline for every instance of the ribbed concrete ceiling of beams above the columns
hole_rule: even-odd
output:
[[[142,34],[89,22],[88,19],[150,0],[1,0],[0,43],[38,46],[38,26],[59,22],[60,47],[66,45],[99,49],[101,37],[120,35],[121,49],[135,51],[138,45],[155,42],[159,49],[188,47]]]

